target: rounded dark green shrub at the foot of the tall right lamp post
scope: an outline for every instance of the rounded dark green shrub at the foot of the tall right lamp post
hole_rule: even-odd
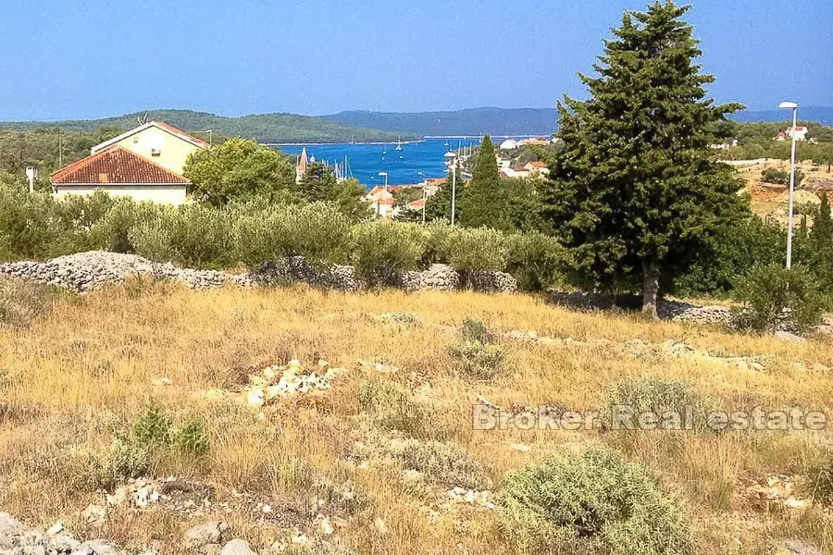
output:
[[[741,330],[770,332],[779,327],[803,331],[821,323],[828,302],[810,270],[777,264],[756,265],[736,287],[744,303],[736,310]]]

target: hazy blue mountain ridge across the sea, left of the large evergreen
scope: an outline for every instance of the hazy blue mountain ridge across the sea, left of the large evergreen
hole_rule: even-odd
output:
[[[342,111],[323,119],[382,131],[412,132],[421,136],[541,135],[558,128],[552,108],[466,108],[453,111],[385,112]]]

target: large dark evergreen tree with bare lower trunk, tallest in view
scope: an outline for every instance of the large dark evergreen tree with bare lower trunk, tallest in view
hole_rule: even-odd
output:
[[[744,210],[741,181],[712,160],[716,123],[742,107],[714,106],[714,81],[688,7],[656,2],[625,12],[593,68],[579,74],[591,98],[559,102],[564,149],[544,187],[545,217],[572,247],[590,285],[642,282],[643,310],[656,316],[664,283],[686,270],[709,236]]]

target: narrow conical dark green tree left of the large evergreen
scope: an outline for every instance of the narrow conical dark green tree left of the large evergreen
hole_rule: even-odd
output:
[[[508,199],[506,191],[501,188],[495,147],[491,144],[491,137],[488,135],[483,136],[480,148],[477,149],[477,160],[474,171],[471,173],[471,181],[457,200],[460,205],[460,225],[464,227],[486,225],[496,230],[511,229]]]

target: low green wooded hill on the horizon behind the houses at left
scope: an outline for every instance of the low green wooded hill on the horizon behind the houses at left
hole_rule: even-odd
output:
[[[0,121],[0,128],[36,129],[41,127],[59,127],[67,131],[95,131],[101,127],[122,131],[137,126],[137,118],[146,112],[135,112],[123,116],[106,117],[97,120],[63,120],[63,121]],[[183,131],[207,131],[224,136],[242,136],[258,142],[392,142],[397,136],[402,140],[416,139],[418,136],[407,133],[392,133],[349,126],[337,121],[328,121],[315,116],[297,116],[295,114],[272,113],[252,116],[227,117],[205,111],[192,110],[151,110],[147,111],[147,121],[165,121]]]

